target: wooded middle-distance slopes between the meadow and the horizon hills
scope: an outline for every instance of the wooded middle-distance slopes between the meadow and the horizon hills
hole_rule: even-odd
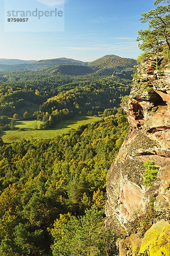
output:
[[[0,72],[0,114],[10,117],[16,112],[21,117],[26,111],[31,115],[38,111],[38,104],[41,104],[41,112],[49,114],[66,108],[70,113],[97,113],[117,106],[119,97],[129,93],[130,80],[123,77],[104,78],[98,74],[68,76],[58,74],[54,67],[40,71],[18,70],[17,75],[14,71]]]

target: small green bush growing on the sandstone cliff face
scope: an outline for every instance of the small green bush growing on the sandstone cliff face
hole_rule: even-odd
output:
[[[157,177],[160,167],[155,166],[155,162],[149,161],[149,160],[144,162],[144,166],[146,168],[146,171],[143,175],[144,176],[144,184],[146,184],[147,186],[150,186],[150,185],[152,185],[153,181],[156,180],[156,177]]]

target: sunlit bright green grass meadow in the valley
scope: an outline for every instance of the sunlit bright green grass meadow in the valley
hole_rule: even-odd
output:
[[[34,130],[35,125],[39,128],[40,121],[31,120],[31,121],[16,121],[16,128],[24,128],[25,131],[1,131],[0,137],[5,143],[12,143],[14,141],[19,141],[22,139],[31,140],[31,139],[52,139],[57,135],[66,133],[71,128],[78,128],[80,125],[86,123],[94,122],[99,120],[99,118],[94,116],[75,116],[71,120],[64,120],[55,125],[53,129],[50,130]]]

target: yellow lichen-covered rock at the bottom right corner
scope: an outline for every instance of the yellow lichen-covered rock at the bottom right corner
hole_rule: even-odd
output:
[[[170,223],[157,221],[141,237],[134,233],[119,241],[119,256],[169,256],[170,255]]]

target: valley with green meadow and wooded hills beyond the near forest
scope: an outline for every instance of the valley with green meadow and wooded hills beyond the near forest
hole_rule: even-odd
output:
[[[66,58],[38,63],[67,64],[0,71],[0,131],[6,143],[51,139],[96,120],[92,116],[102,116],[105,109],[118,108],[130,93],[135,61],[106,55],[89,65]]]

